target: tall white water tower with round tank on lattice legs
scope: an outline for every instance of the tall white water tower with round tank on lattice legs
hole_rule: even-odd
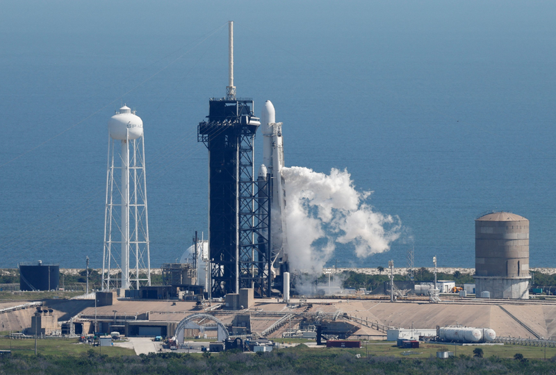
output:
[[[123,106],[108,120],[102,289],[140,283],[151,285],[145,140],[142,120]]]

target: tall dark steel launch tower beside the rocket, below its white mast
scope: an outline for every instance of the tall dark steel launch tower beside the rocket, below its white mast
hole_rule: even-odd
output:
[[[240,288],[270,295],[270,190],[267,181],[254,181],[259,119],[253,105],[251,99],[211,99],[208,122],[197,128],[198,141],[208,149],[212,297]]]

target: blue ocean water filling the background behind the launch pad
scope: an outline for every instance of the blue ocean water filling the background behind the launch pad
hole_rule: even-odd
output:
[[[347,169],[398,216],[384,253],[338,267],[474,266],[474,219],[530,219],[531,267],[556,267],[556,4],[549,1],[4,1],[0,267],[101,265],[107,122],[145,123],[151,262],[207,230],[208,98],[270,99],[288,166]],[[262,160],[261,135],[256,160]]]

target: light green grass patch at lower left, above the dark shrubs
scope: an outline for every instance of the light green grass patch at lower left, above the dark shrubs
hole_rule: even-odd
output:
[[[0,350],[12,350],[12,353],[22,355],[35,355],[34,339],[10,340],[0,338]],[[92,349],[109,357],[135,356],[135,351],[121,347],[90,347],[89,344],[81,344],[76,338],[49,338],[37,341],[37,352],[43,356],[79,356],[88,353]]]

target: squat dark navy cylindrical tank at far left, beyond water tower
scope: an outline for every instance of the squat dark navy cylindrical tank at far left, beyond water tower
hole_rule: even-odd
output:
[[[60,265],[19,263],[19,290],[56,290],[60,281]]]

